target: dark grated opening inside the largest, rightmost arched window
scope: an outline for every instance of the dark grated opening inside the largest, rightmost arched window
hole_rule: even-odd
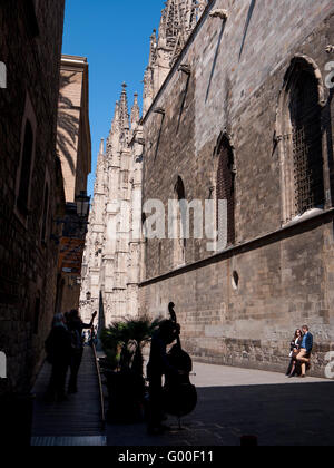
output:
[[[295,211],[303,214],[324,206],[321,107],[317,81],[301,71],[291,98]]]

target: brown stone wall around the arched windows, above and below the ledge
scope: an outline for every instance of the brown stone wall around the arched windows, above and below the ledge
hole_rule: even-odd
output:
[[[227,10],[226,21],[209,17],[216,9]],[[199,359],[283,369],[294,330],[308,322],[318,351],[314,372],[323,372],[334,340],[332,95],[320,86],[324,211],[289,227],[277,107],[296,55],[313,60],[324,82],[333,13],[327,0],[213,1],[144,118],[144,201],[161,199],[166,209],[178,177],[189,202],[209,199],[219,136],[234,150],[234,247],[210,259],[207,240],[190,238],[186,264],[197,264],[175,272],[174,241],[146,244],[141,310],[160,313],[173,300],[187,347]]]

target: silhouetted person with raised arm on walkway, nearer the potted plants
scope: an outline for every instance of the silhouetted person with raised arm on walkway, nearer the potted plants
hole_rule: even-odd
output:
[[[70,332],[71,338],[71,359],[70,359],[70,379],[68,386],[68,393],[77,393],[78,392],[78,373],[84,355],[84,339],[82,332],[84,330],[91,330],[94,325],[94,320],[97,316],[97,312],[95,312],[91,316],[91,321],[89,324],[82,322],[79,312],[77,310],[72,310],[68,318],[68,329]]]

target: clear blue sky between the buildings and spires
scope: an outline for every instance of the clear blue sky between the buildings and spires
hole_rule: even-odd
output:
[[[92,195],[100,138],[107,138],[121,84],[141,101],[149,37],[158,28],[164,0],[66,0],[62,52],[87,57],[92,167],[88,192]]]

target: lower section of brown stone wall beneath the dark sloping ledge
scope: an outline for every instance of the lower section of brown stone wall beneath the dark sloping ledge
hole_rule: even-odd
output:
[[[196,360],[279,371],[287,368],[295,329],[308,323],[316,342],[313,373],[323,377],[334,341],[334,256],[333,222],[321,224],[148,281],[139,290],[141,311],[166,316],[174,301],[184,347]],[[314,254],[318,243],[323,252]]]

